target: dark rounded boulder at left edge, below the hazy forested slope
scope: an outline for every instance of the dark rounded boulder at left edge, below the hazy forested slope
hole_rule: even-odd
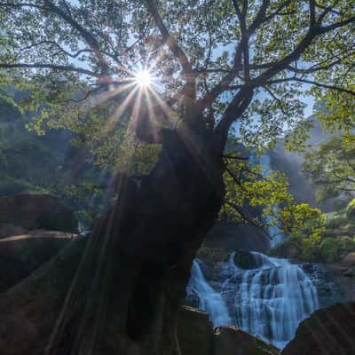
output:
[[[73,233],[78,229],[73,210],[49,194],[23,193],[0,198],[0,227],[1,225]]]

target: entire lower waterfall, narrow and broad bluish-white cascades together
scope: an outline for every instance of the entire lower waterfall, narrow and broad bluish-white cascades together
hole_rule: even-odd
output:
[[[187,299],[209,313],[214,327],[235,326],[282,349],[299,323],[319,308],[317,289],[297,264],[251,252],[254,266],[241,269],[234,253],[208,282],[193,261]]]

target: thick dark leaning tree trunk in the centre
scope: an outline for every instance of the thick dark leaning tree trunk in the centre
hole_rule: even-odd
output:
[[[151,174],[140,186],[122,178],[114,208],[95,225],[46,353],[180,353],[177,312],[222,203],[223,167],[206,132],[166,130],[162,137]]]

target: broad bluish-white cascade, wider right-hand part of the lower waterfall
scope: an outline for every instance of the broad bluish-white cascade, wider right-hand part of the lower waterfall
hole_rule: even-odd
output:
[[[283,348],[296,334],[299,323],[319,308],[316,288],[304,271],[286,259],[252,252],[256,269],[233,270],[222,295],[233,309],[233,325]]]

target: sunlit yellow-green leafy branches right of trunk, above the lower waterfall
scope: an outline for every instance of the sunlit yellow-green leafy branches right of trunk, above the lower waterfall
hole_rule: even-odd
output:
[[[326,228],[327,215],[306,203],[297,204],[288,193],[287,178],[280,172],[265,175],[260,165],[237,158],[227,158],[225,164],[221,217],[259,225],[266,231],[277,227],[277,233],[288,235],[295,248],[304,253],[302,257],[312,258]]]

